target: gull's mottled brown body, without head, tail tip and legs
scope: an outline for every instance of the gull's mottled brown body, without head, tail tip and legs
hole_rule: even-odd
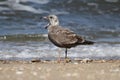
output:
[[[71,48],[79,43],[83,43],[84,39],[76,35],[69,29],[62,28],[60,26],[50,26],[48,37],[58,47]]]

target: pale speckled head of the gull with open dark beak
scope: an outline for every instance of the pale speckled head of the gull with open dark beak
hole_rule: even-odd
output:
[[[43,18],[49,21],[47,27],[59,25],[59,20],[58,20],[58,17],[56,15],[48,15],[48,16],[43,17]]]

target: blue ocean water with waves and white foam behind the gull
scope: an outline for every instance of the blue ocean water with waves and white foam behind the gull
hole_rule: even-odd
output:
[[[120,59],[119,0],[1,0],[0,59],[57,59],[58,48],[48,40],[47,23],[40,18],[48,14],[96,42],[69,49],[69,57]]]

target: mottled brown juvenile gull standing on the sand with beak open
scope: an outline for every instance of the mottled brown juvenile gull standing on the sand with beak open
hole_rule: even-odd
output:
[[[87,41],[83,37],[78,36],[73,31],[63,28],[59,25],[59,20],[56,15],[48,15],[44,17],[48,20],[46,29],[48,29],[49,40],[60,48],[65,48],[65,58],[67,58],[67,49],[77,45],[90,45],[94,42]]]

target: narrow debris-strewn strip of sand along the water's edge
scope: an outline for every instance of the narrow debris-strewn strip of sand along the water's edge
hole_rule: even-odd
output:
[[[120,60],[116,60],[116,59],[61,59],[61,60],[42,60],[42,59],[31,59],[31,60],[0,60],[0,64],[2,63],[120,63]]]

